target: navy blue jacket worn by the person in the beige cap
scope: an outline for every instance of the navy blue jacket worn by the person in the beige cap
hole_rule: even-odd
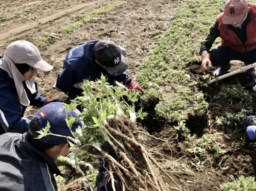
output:
[[[24,83],[25,84],[25,83]],[[42,97],[38,92],[31,93],[27,86],[24,86],[30,105],[42,107],[48,97]],[[37,84],[35,83],[37,89]],[[27,106],[19,102],[14,80],[8,73],[0,68],[0,134],[4,132],[25,133],[28,131],[28,123],[21,119]]]

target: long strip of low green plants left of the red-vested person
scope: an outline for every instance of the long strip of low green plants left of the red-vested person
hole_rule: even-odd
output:
[[[182,115],[183,110],[200,115],[207,109],[203,93],[197,90],[197,82],[190,80],[186,68],[190,63],[199,62],[200,42],[220,13],[220,4],[223,4],[222,0],[186,1],[150,58],[141,64],[138,81],[146,89],[145,97],[160,92],[160,101],[155,108],[159,116],[179,121],[186,117]],[[211,11],[205,11],[209,7]],[[160,22],[155,28],[159,27]],[[155,87],[149,84],[155,84]]]

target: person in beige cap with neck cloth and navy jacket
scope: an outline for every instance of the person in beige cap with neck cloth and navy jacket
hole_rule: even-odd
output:
[[[42,107],[59,101],[43,97],[34,81],[37,70],[52,69],[37,47],[26,40],[15,41],[6,48],[0,56],[0,134],[28,130],[30,120],[23,117],[28,105]]]

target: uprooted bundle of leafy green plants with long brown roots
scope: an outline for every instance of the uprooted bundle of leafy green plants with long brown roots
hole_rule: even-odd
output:
[[[84,81],[81,88],[83,95],[66,105],[71,110],[81,108],[85,123],[85,128],[78,128],[74,137],[67,137],[72,145],[70,158],[77,162],[102,158],[108,164],[105,184],[111,183],[114,191],[180,190],[150,149],[143,145],[145,130],[136,119],[143,119],[146,113],[142,109],[135,111],[140,92],[111,86],[104,76],[96,82]],[[71,127],[74,119],[66,121]],[[50,127],[45,129],[42,136],[51,134],[50,131]],[[114,155],[102,149],[103,143],[111,146]]]

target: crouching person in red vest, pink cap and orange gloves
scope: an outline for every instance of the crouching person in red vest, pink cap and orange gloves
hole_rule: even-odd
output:
[[[221,37],[221,46],[210,51],[213,42]],[[214,75],[221,76],[230,69],[230,60],[245,65],[256,62],[256,3],[246,0],[228,0],[224,12],[217,16],[207,37],[201,42],[201,70],[220,66]],[[256,78],[255,69],[246,72]]]

